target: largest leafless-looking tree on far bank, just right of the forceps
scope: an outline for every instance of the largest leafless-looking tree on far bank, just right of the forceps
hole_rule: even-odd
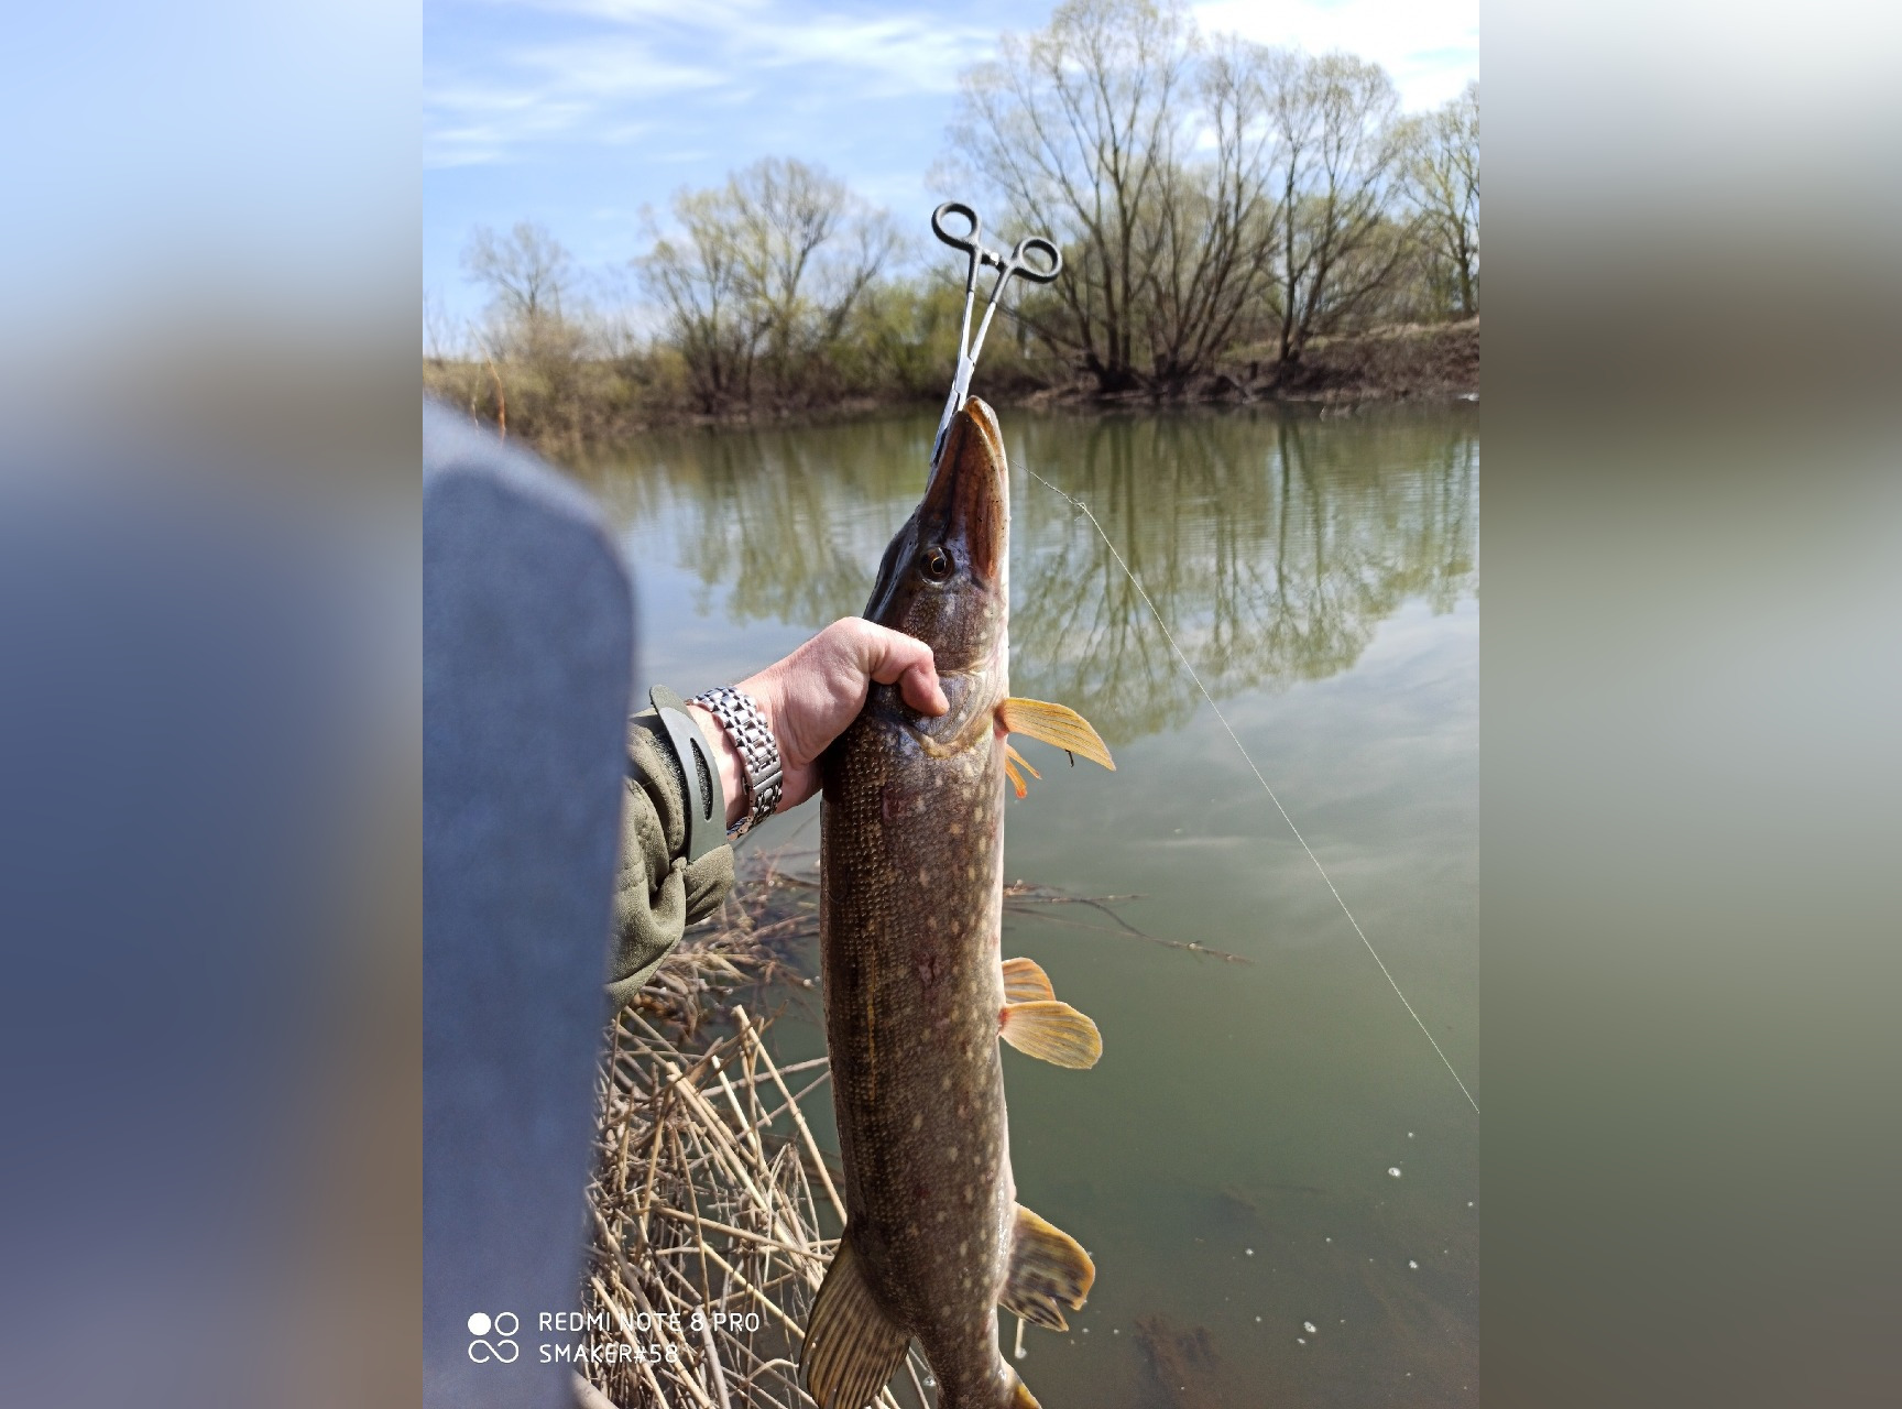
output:
[[[1368,247],[1347,211],[1318,240],[1303,219],[1297,243],[1318,257],[1286,276],[1288,203],[1309,198],[1316,152],[1350,127],[1333,118],[1362,74],[1337,72],[1350,63],[1204,42],[1172,2],[1071,0],[966,70],[951,165],[1063,243],[1063,278],[1025,304],[1044,342],[1101,390],[1174,388],[1276,337],[1291,293],[1295,346]],[[1290,103],[1316,76],[1314,120],[1291,124]]]

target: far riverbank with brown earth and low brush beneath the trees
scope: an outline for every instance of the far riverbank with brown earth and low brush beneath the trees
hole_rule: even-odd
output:
[[[848,420],[888,407],[936,407],[941,392],[841,390],[825,399],[732,405],[704,411],[683,394],[668,354],[534,365],[428,361],[424,388],[479,420],[536,445],[607,443],[679,426],[803,426]],[[999,407],[1320,405],[1324,415],[1360,403],[1474,401],[1480,394],[1480,319],[1409,323],[1314,338],[1299,361],[1280,365],[1272,346],[1242,348],[1208,376],[1168,388],[1105,394],[1035,357],[987,361],[980,394]]]

